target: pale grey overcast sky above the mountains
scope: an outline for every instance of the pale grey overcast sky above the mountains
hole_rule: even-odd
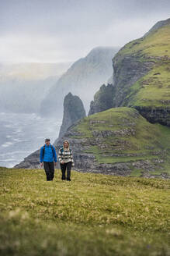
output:
[[[0,0],[0,62],[73,62],[168,18],[169,0]]]

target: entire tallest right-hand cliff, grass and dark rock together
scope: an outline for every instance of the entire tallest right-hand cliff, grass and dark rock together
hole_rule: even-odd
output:
[[[169,42],[170,19],[120,49],[113,58],[113,107],[137,108],[152,123],[169,126]]]

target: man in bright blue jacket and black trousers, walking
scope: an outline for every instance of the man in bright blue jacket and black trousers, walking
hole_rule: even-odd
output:
[[[57,165],[57,155],[50,139],[45,140],[45,144],[40,148],[40,166],[44,168],[47,180],[54,179],[54,162]]]

